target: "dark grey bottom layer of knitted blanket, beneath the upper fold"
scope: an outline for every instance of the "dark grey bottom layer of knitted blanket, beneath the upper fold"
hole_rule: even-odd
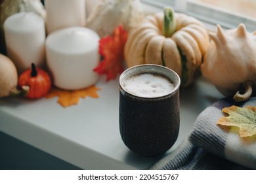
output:
[[[152,170],[226,170],[248,169],[227,159],[211,154],[203,148],[194,146],[188,139],[174,152],[160,159],[150,169]]]

